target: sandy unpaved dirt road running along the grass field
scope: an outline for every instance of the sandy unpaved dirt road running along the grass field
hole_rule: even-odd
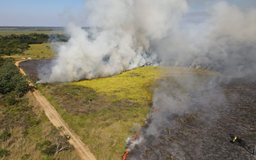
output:
[[[23,60],[21,60],[23,61]],[[21,61],[15,62],[16,66],[19,66],[19,63]],[[24,75],[26,73],[23,69],[20,68],[20,72]],[[34,84],[30,83],[30,86],[34,86]],[[96,160],[96,158],[93,156],[93,154],[90,152],[90,150],[84,145],[84,143],[80,140],[80,138],[68,127],[68,125],[65,123],[65,121],[60,117],[58,112],[55,110],[55,108],[50,104],[50,102],[42,95],[41,92],[38,90],[35,90],[33,92],[36,100],[39,102],[41,107],[44,109],[45,115],[49,118],[51,123],[56,127],[62,127],[63,132],[60,133],[61,136],[64,133],[67,133],[71,135],[71,139],[68,140],[68,142],[74,146],[74,148],[78,151],[79,156],[81,159],[86,160]]]

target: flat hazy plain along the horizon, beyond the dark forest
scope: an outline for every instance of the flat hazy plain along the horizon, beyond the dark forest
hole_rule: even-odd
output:
[[[30,34],[30,33],[59,33],[65,34],[65,28],[63,27],[0,27],[0,35],[7,36],[11,34]]]

